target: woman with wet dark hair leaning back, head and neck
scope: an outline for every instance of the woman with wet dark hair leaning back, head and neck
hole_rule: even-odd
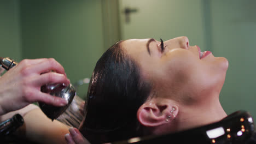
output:
[[[96,64],[79,130],[104,143],[220,121],[227,69],[226,58],[201,52],[187,37],[120,41]]]

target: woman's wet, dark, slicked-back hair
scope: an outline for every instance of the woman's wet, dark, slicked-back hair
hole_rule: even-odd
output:
[[[86,116],[79,130],[91,143],[142,136],[137,110],[147,100],[150,89],[121,42],[114,44],[95,66],[84,108]]]

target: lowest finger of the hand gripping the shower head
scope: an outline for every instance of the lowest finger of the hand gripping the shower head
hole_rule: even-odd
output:
[[[68,104],[68,101],[66,99],[55,97],[47,93],[38,92],[36,90],[28,92],[28,94],[26,95],[26,99],[29,103],[40,101],[42,103],[54,106],[65,106]]]

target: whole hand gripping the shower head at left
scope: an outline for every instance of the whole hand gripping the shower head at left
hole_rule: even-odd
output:
[[[40,92],[40,87],[46,83],[70,83],[60,63],[53,58],[21,61],[0,77],[0,115],[36,101],[55,106],[66,105],[67,101]]]

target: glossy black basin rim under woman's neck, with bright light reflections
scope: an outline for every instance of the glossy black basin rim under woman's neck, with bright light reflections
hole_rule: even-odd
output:
[[[135,137],[125,141],[113,142],[123,143],[245,143],[254,134],[254,123],[252,116],[246,111],[231,113],[219,122],[204,125],[178,133],[165,134],[161,136]]]

